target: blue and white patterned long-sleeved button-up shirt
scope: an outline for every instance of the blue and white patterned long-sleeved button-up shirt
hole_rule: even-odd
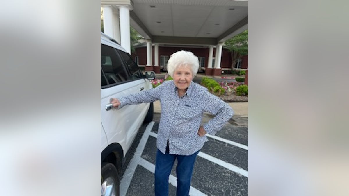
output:
[[[206,135],[198,135],[203,112],[216,115],[203,126],[211,135],[215,135],[234,114],[227,103],[193,81],[182,97],[178,96],[173,81],[165,81],[154,89],[120,98],[119,108],[156,100],[161,103],[156,146],[164,154],[167,141],[170,154],[191,155],[202,148],[208,141]]]

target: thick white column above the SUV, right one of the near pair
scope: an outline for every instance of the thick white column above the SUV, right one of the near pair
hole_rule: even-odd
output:
[[[131,54],[131,39],[130,39],[130,12],[128,7],[119,7],[120,15],[120,42],[121,46]]]

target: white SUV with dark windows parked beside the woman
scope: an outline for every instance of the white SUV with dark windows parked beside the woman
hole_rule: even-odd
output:
[[[154,72],[146,74],[155,78]],[[112,108],[119,98],[153,88],[131,56],[101,33],[101,196],[119,195],[124,157],[143,122],[153,120],[153,103]]]

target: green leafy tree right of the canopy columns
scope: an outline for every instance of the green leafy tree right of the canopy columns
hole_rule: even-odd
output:
[[[233,70],[238,59],[248,54],[248,30],[228,39],[224,44],[224,47],[231,52],[231,69]]]

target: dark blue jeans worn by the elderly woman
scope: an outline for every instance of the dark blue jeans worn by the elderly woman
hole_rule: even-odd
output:
[[[199,151],[188,156],[169,154],[167,146],[166,152],[163,154],[158,149],[155,162],[155,196],[169,195],[169,175],[176,158],[178,162],[176,168],[177,196],[189,195],[194,163],[198,153]]]

